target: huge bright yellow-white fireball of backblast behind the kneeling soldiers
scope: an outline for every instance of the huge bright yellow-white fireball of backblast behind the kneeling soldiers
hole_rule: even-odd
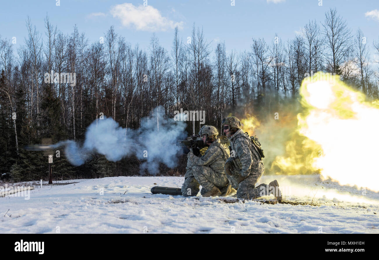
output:
[[[299,134],[313,140],[312,167],[341,185],[379,191],[379,102],[346,86],[338,76],[318,72],[304,79]]]

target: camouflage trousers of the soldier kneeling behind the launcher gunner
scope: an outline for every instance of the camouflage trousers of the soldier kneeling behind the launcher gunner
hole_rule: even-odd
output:
[[[232,175],[227,174],[229,183],[233,188],[237,190],[237,198],[239,199],[254,199],[258,197],[265,196],[268,193],[268,185],[260,184],[258,187],[255,187],[258,179],[262,176],[265,166],[263,162],[258,163],[257,165],[252,165],[250,174],[246,179],[241,181],[238,184],[238,178],[240,176],[240,168],[236,167],[235,163],[232,162],[232,167],[230,171]]]

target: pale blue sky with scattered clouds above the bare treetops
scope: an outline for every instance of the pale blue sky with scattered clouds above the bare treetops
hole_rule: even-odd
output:
[[[308,20],[324,20],[329,8],[337,8],[355,33],[363,30],[370,44],[379,36],[379,2],[377,0],[20,0],[1,3],[0,34],[3,38],[17,37],[17,48],[27,36],[25,20],[29,15],[33,25],[44,35],[46,13],[53,25],[70,33],[77,24],[90,42],[99,40],[111,25],[134,46],[147,50],[152,33],[161,45],[171,50],[175,25],[180,27],[183,41],[191,35],[192,25],[203,26],[205,38],[213,48],[225,41],[228,51],[250,50],[252,37],[263,37],[266,42],[274,34],[286,41]],[[373,51],[371,51],[373,53]]]

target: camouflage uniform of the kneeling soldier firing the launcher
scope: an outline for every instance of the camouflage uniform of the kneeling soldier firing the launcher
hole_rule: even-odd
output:
[[[202,195],[214,187],[225,187],[228,179],[224,165],[229,156],[229,149],[220,142],[220,139],[213,141],[202,157],[197,157],[192,151],[189,152],[187,154],[187,172],[182,186],[183,196],[196,196],[199,192],[199,185],[203,187]]]

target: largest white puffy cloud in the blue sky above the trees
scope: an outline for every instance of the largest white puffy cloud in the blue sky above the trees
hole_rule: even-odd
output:
[[[158,9],[152,6],[134,6],[131,3],[123,3],[111,8],[113,17],[121,20],[123,26],[134,27],[141,31],[166,31],[169,28],[183,29],[183,22],[174,22],[163,17]]]

